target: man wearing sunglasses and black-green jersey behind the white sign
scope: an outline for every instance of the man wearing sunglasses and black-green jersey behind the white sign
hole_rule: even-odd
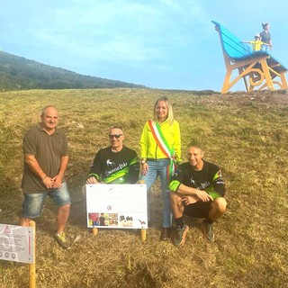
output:
[[[112,126],[108,137],[111,145],[96,153],[86,183],[135,184],[139,179],[136,151],[123,145],[121,127]]]

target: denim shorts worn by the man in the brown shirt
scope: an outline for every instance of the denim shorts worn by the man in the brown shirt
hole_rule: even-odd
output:
[[[38,218],[47,195],[53,199],[58,207],[71,204],[67,183],[63,182],[58,189],[46,190],[42,193],[24,193],[23,217]]]

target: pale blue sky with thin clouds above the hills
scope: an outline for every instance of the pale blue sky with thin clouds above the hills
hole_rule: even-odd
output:
[[[150,88],[220,91],[226,68],[211,20],[240,40],[270,23],[271,53],[288,67],[287,11],[283,0],[1,0],[0,50]]]

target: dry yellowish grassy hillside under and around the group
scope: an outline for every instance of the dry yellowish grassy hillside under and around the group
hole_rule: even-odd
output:
[[[108,128],[123,126],[126,145],[139,150],[139,135],[159,96],[173,103],[183,152],[202,141],[205,158],[222,167],[228,186],[226,215],[216,239],[202,238],[198,220],[182,248],[160,242],[161,197],[153,186],[152,227],[146,242],[130,230],[85,227],[85,183],[95,152],[108,144]],[[285,287],[288,279],[288,95],[211,94],[148,89],[32,90],[0,93],[0,223],[17,225],[25,130],[40,109],[54,104],[66,130],[73,200],[63,250],[52,238],[55,206],[47,201],[37,225],[37,286],[46,287]],[[184,153],[183,153],[184,154]],[[0,261],[0,287],[28,286],[28,266]]]

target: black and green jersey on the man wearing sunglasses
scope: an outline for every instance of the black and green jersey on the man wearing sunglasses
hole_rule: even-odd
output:
[[[112,152],[111,146],[100,149],[94,157],[89,176],[107,184],[134,184],[139,179],[139,161],[135,150],[123,146]]]

